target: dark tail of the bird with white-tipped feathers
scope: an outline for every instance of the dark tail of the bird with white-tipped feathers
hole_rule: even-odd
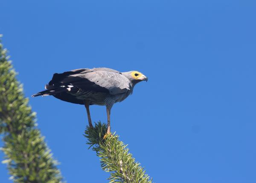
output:
[[[47,89],[47,90],[33,94],[31,97],[37,97],[37,96],[41,96],[41,95],[47,96],[47,95],[58,94],[61,92],[67,92],[67,91],[70,91],[71,87],[73,87],[73,86],[56,86],[55,87],[55,86],[46,85],[45,89]]]

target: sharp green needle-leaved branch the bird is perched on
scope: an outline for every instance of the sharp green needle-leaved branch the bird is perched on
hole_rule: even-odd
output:
[[[101,158],[102,169],[110,172],[110,183],[152,183],[140,163],[135,162],[129,153],[127,145],[119,140],[119,136],[114,133],[104,138],[106,132],[106,124],[99,122],[93,129],[87,126],[84,136],[88,139],[87,144]]]

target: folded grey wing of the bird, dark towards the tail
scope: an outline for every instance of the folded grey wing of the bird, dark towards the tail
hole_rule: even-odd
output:
[[[48,87],[71,84],[82,90],[121,94],[130,90],[130,81],[119,71],[108,68],[76,69],[55,73]]]

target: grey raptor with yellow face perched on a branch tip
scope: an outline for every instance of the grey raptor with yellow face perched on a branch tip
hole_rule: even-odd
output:
[[[133,93],[134,86],[148,77],[139,71],[119,72],[109,68],[74,69],[53,74],[42,92],[32,97],[53,97],[85,106],[89,127],[93,128],[90,105],[106,106],[107,134],[111,133],[110,114],[114,103],[122,102]]]

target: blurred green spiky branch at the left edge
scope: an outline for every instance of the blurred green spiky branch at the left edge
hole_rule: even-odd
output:
[[[35,112],[28,106],[6,53],[0,42],[0,133],[6,154],[2,162],[7,163],[15,183],[60,183],[57,162],[36,129]]]

